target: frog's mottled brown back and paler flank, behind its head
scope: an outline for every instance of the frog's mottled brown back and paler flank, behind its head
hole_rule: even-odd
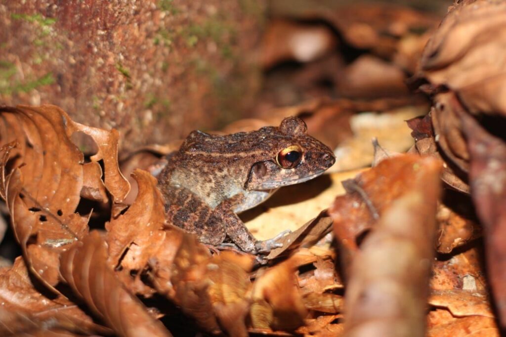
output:
[[[210,207],[244,192],[251,165],[271,150],[274,128],[227,136],[193,131],[159,177],[159,185],[185,188]]]

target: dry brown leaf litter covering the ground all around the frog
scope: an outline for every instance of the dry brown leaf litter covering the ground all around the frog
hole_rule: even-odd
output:
[[[494,60],[503,10],[491,0],[458,2],[437,29],[432,17],[381,6],[272,22],[262,66],[295,59],[305,68],[294,77],[301,85],[332,65],[342,97],[306,88],[313,97],[281,107],[264,96],[254,119],[220,133],[298,115],[346,164],[241,215],[260,238],[272,236],[268,227],[292,229],[261,266],[242,252],[217,254],[166,222],[156,179],[140,168],[156,175],[157,159],[177,146],[123,157],[137,186],[127,198],[116,131],[52,105],[1,107],[0,195],[22,251],[0,269],[1,333],[499,335],[506,145],[495,94],[504,71]],[[414,34],[416,25],[423,32]],[[319,45],[301,49],[304,36]],[[342,44],[368,54],[348,61],[336,54]],[[406,73],[411,87],[432,95],[425,116],[427,102],[403,85]],[[97,153],[85,156],[76,132]],[[100,208],[78,213],[87,200]],[[97,230],[93,215],[104,209],[110,219]]]

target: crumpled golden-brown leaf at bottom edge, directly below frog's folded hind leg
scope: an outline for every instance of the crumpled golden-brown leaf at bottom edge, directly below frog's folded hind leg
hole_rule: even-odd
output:
[[[193,234],[168,226],[165,242],[151,259],[153,284],[205,330],[247,335],[247,272],[254,257],[222,252],[211,257]]]

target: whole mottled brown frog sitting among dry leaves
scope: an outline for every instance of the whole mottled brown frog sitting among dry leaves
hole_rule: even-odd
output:
[[[258,241],[237,216],[279,187],[321,175],[332,151],[307,135],[306,123],[285,118],[279,127],[227,136],[193,131],[158,176],[167,220],[199,240],[220,245],[228,237],[240,249],[266,253],[280,243]],[[283,233],[282,233],[283,234]]]

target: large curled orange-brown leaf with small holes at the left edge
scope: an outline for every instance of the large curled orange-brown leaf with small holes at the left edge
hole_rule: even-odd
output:
[[[2,107],[0,113],[2,127],[12,128],[19,144],[13,152],[16,157],[11,168],[14,170],[2,187],[14,232],[29,270],[52,288],[58,282],[58,254],[63,246],[88,232],[88,219],[74,214],[81,191],[94,199],[107,200],[105,190],[101,188],[99,167],[95,163],[95,166],[87,165],[85,170],[83,154],[70,137],[82,129],[100,141],[104,135],[114,135],[114,132],[82,127],[52,105]],[[112,153],[117,147],[117,137],[116,142],[113,137],[108,140],[110,155],[109,159],[104,159],[109,162],[106,163],[106,181],[112,177],[118,181],[117,185],[121,185],[119,172],[107,170],[110,162],[116,160]],[[6,163],[4,160],[3,177],[6,176],[5,170],[9,170]],[[83,185],[85,178],[87,185]],[[109,188],[113,194],[118,190],[113,186]],[[33,243],[28,245],[32,237]]]

